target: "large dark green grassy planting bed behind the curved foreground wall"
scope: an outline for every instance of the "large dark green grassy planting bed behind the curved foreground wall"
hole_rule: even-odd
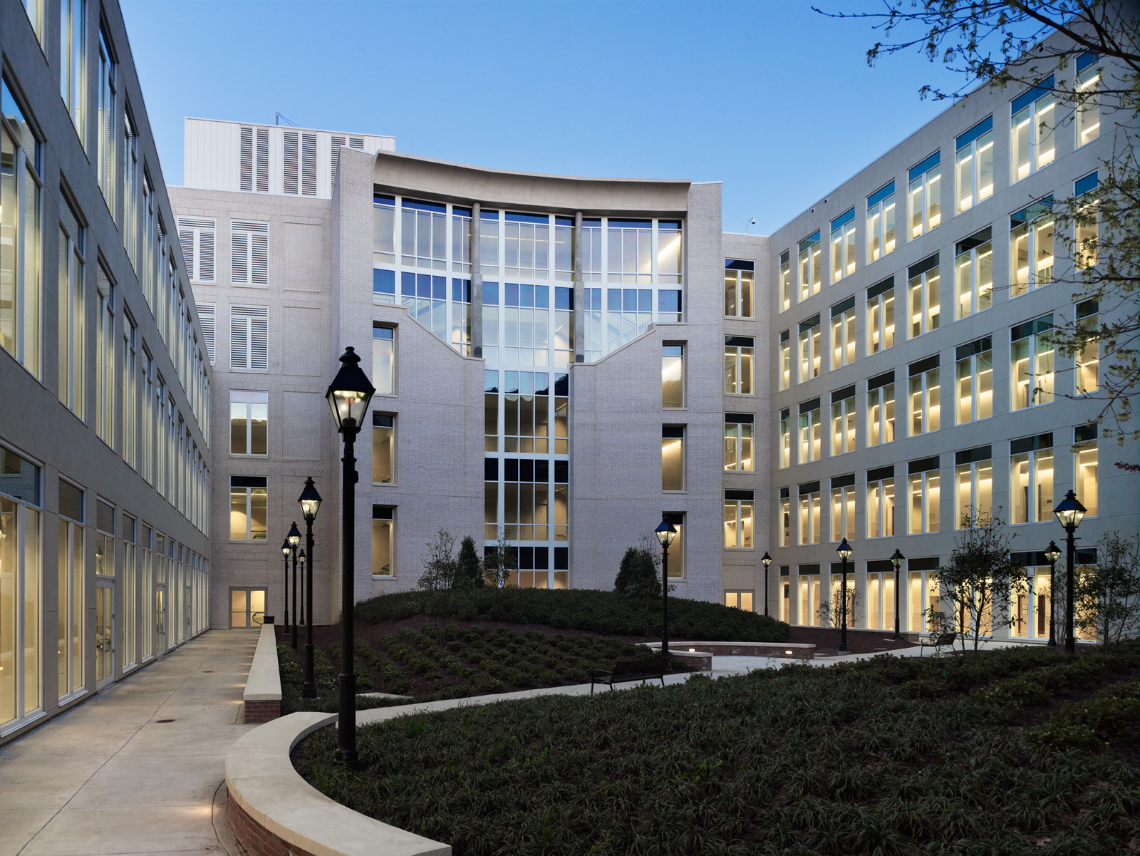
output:
[[[467,854],[1126,854],[1140,649],[1012,649],[323,729],[318,790]]]

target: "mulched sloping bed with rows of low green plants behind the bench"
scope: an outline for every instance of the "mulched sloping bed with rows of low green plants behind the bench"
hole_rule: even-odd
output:
[[[283,712],[336,710],[340,643],[326,653],[315,650],[317,699],[302,699],[301,659],[291,645],[279,644]],[[410,695],[417,701],[564,686],[589,682],[591,670],[617,659],[651,657],[626,639],[587,634],[543,634],[510,627],[462,627],[448,630],[443,642],[433,626],[404,626],[393,633],[356,641],[357,692]],[[678,660],[673,671],[686,671]],[[399,699],[358,698],[357,708],[407,703]]]

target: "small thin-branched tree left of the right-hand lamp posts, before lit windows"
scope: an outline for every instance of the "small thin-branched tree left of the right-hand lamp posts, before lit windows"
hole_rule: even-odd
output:
[[[931,606],[927,614],[936,629],[956,631],[963,651],[968,641],[977,651],[983,636],[1013,622],[1010,596],[1027,590],[1028,573],[1010,557],[1012,537],[1000,517],[970,506],[962,525],[950,564],[938,569],[942,600],[952,612]]]

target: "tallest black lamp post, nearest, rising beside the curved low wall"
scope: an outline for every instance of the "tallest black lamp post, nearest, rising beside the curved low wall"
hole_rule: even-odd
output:
[[[328,385],[325,398],[344,441],[344,457],[341,458],[341,674],[337,677],[336,757],[352,767],[357,766],[356,672],[352,670],[357,471],[352,446],[375,392],[376,388],[360,368],[360,358],[351,348],[345,348],[341,368]]]

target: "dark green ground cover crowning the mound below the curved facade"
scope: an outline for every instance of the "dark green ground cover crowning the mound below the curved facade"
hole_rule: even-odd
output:
[[[377,623],[424,614],[424,601],[417,595],[406,592],[361,601],[356,608],[357,620]],[[660,600],[630,598],[617,592],[480,586],[447,604],[447,611],[459,621],[547,625],[609,636],[661,634]],[[789,630],[783,621],[755,612],[669,598],[669,635],[674,639],[784,642]]]

